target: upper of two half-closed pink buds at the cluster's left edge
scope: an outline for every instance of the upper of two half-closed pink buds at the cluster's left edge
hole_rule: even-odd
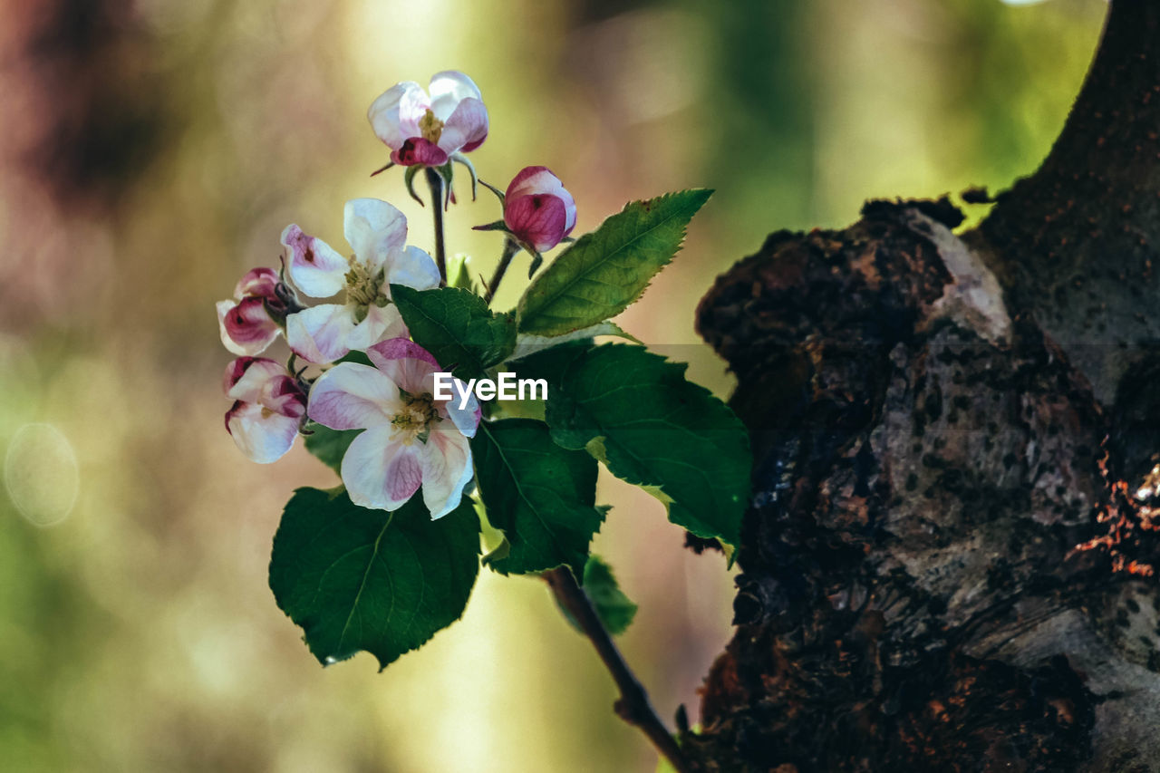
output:
[[[222,344],[234,354],[261,354],[296,310],[293,292],[270,268],[254,268],[238,282],[233,301],[218,301]]]

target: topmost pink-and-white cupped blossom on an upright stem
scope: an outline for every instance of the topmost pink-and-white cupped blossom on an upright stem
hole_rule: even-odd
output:
[[[487,138],[479,87],[455,70],[435,73],[429,95],[414,81],[396,84],[371,103],[367,117],[400,166],[443,166]]]

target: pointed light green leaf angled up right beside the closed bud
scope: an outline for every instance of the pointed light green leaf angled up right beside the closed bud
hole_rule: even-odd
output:
[[[521,333],[561,335],[624,311],[681,248],[684,226],[712,190],[629,203],[561,252],[520,298]]]

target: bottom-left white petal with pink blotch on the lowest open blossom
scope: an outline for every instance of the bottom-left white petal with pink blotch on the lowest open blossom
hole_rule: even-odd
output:
[[[393,433],[390,426],[368,429],[354,439],[342,457],[342,483],[354,504],[398,510],[419,489],[421,443],[394,442]]]

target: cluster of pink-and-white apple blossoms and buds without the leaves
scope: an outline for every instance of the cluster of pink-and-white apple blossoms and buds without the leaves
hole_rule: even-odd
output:
[[[450,188],[452,161],[466,165],[474,182],[465,153],[487,138],[488,116],[467,75],[437,73],[426,91],[398,84],[374,101],[368,120],[391,151],[387,166],[409,167],[408,188],[422,168]],[[503,194],[493,190],[503,217],[485,227],[505,231],[510,250],[538,260],[575,226],[575,202],[546,167],[529,166]],[[430,204],[445,207],[434,192]],[[442,260],[408,245],[406,217],[378,198],[346,203],[343,236],[346,254],[291,223],[282,231],[281,270],[249,270],[233,298],[217,304],[222,342],[239,355],[223,383],[233,400],[226,431],[259,463],[277,461],[318,426],[362,431],[340,467],[351,501],[393,511],[421,490],[432,516],[440,518],[458,506],[473,477],[469,439],[481,410],[474,397],[436,397],[443,393],[434,383],[442,368],[411,340],[391,286],[443,287]],[[306,298],[319,303],[307,305]],[[259,356],[283,335],[285,363]]]

